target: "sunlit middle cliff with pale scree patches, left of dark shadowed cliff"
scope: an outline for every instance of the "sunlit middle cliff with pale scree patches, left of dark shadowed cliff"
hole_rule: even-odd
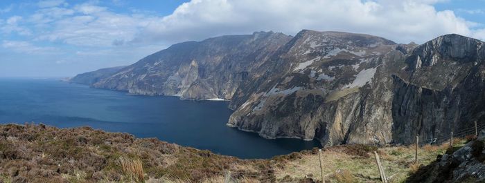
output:
[[[268,138],[316,138],[327,146],[389,143],[388,68],[404,59],[397,47],[370,35],[303,30],[273,58],[268,70],[276,72],[233,99],[237,109],[228,124]]]

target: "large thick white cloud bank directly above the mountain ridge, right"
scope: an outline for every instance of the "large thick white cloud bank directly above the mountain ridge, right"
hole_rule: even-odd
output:
[[[186,41],[215,35],[274,30],[294,35],[301,29],[378,35],[400,43],[439,35],[472,35],[467,21],[438,0],[193,0],[172,15],[150,22],[135,41]]]

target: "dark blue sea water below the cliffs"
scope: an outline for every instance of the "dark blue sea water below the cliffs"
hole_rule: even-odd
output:
[[[228,102],[127,95],[55,79],[0,79],[3,124],[91,126],[241,158],[267,158],[319,144],[300,139],[263,139],[256,133],[229,128],[226,123],[232,110],[227,106]]]

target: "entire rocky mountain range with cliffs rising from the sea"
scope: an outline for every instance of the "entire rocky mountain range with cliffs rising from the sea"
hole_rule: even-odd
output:
[[[267,138],[410,144],[485,119],[483,45],[460,35],[416,45],[348,32],[255,32],[175,44],[92,86],[229,99],[227,125]]]

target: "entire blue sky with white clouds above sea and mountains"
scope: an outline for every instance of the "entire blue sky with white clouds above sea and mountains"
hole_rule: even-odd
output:
[[[72,77],[182,41],[302,29],[485,40],[485,0],[2,0],[0,77]]]

